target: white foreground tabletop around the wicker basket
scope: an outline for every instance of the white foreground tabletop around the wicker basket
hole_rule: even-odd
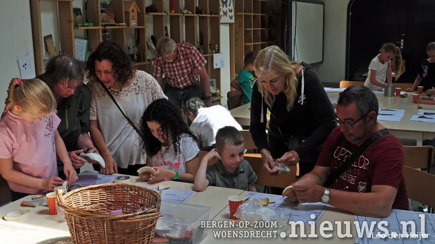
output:
[[[118,174],[114,174],[114,177],[116,176]],[[132,184],[158,187],[159,183],[144,182],[139,177],[133,176]],[[172,182],[170,184],[171,189],[194,191],[192,183]],[[209,218],[212,219],[228,207],[228,197],[241,193],[243,190],[209,186],[203,192],[196,192],[186,203],[211,207]],[[47,241],[52,238],[67,241],[62,243],[70,243],[71,237],[63,215],[50,215],[45,203],[35,208],[20,206],[21,201],[31,199],[32,196],[27,196],[0,208],[0,244],[56,243]],[[4,214],[13,210],[29,210],[30,213],[25,219],[18,221],[4,220]]]

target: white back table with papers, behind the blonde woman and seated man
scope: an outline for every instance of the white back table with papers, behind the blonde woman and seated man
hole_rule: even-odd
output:
[[[338,93],[329,92],[330,96],[337,96]],[[421,146],[423,140],[433,139],[435,137],[435,124],[430,122],[410,121],[411,117],[418,112],[418,105],[412,102],[412,92],[408,92],[407,98],[398,96],[385,97],[378,96],[379,108],[405,109],[405,113],[399,122],[379,121],[391,134],[398,138],[415,139],[417,146]],[[331,103],[337,103],[336,99],[331,99]],[[421,104],[422,109],[434,110],[434,105]],[[251,121],[251,104],[245,104],[240,107],[231,109],[233,117],[241,125],[250,125]],[[268,116],[269,119],[269,116]]]

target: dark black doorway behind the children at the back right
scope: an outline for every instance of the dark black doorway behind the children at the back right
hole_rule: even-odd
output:
[[[413,83],[426,45],[435,41],[434,0],[350,0],[346,77],[364,81],[370,61],[386,42],[401,46],[405,72],[396,81]]]

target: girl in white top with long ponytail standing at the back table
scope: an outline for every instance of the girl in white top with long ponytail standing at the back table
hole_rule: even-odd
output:
[[[400,67],[402,64],[402,53],[396,45],[386,43],[379,52],[368,66],[368,76],[364,83],[366,87],[375,91],[383,91],[387,83],[391,84],[393,79],[391,60],[397,64],[394,65],[395,67]]]

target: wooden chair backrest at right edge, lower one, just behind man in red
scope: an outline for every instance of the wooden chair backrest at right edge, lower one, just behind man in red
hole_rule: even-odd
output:
[[[403,166],[408,198],[435,208],[435,175]]]

